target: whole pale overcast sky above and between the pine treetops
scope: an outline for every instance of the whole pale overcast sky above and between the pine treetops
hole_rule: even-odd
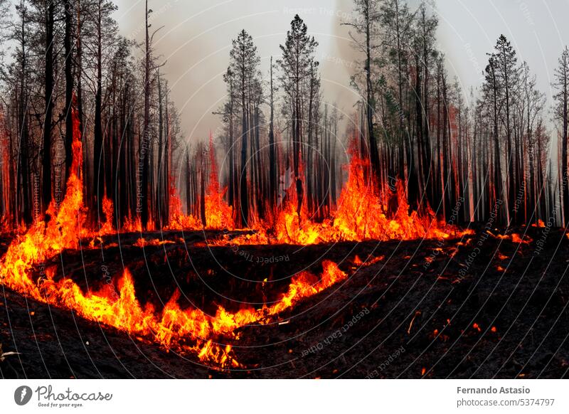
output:
[[[144,36],[144,0],[117,0],[116,18],[122,34],[139,41]],[[414,9],[418,1],[409,2]],[[538,76],[538,86],[551,97],[553,69],[565,44],[569,0],[436,0],[428,1],[439,16],[438,41],[447,55],[447,68],[464,90],[482,82],[486,53],[500,33],[516,48]],[[223,72],[232,38],[245,28],[255,39],[268,74],[270,56],[280,54],[287,28],[298,13],[319,42],[324,96],[347,114],[357,97],[349,87],[353,60],[346,26],[351,0],[149,0],[153,28],[164,26],[155,39],[171,97],[181,111],[186,139],[207,136],[220,126],[211,112],[225,99]]]

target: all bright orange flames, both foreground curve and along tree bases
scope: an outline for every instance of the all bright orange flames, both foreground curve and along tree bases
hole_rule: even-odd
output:
[[[78,121],[74,112],[76,128]],[[77,131],[76,137],[80,137]],[[112,202],[103,200],[103,213],[106,222],[98,231],[86,228],[86,209],[83,206],[83,180],[78,174],[82,163],[81,141],[73,143],[73,174],[68,179],[65,198],[59,209],[55,203],[50,205],[46,221],[38,220],[25,235],[17,236],[9,246],[4,257],[1,270],[1,281],[6,287],[41,302],[65,307],[77,312],[85,319],[109,325],[136,336],[144,336],[178,352],[192,352],[201,361],[220,368],[238,367],[240,363],[234,358],[230,345],[216,342],[219,336],[235,338],[235,330],[246,324],[264,324],[270,317],[293,307],[299,300],[331,287],[344,280],[347,275],[329,261],[322,264],[320,277],[303,271],[292,277],[285,294],[275,303],[262,307],[240,309],[228,312],[218,307],[213,315],[201,309],[190,307],[181,309],[178,304],[180,292],[176,293],[165,304],[164,309],[154,309],[151,304],[142,307],[134,292],[132,275],[128,270],[115,282],[117,291],[112,285],[103,287],[98,292],[83,292],[78,285],[68,278],[58,279],[53,267],[45,268],[43,261],[58,255],[66,249],[80,248],[81,238],[100,237],[112,233]],[[231,209],[223,201],[223,192],[218,184],[215,155],[211,147],[210,184],[205,198],[207,228],[220,229],[231,220]],[[292,243],[309,245],[313,243],[338,240],[366,240],[376,238],[447,238],[450,233],[440,227],[435,218],[420,218],[416,213],[408,214],[403,187],[398,186],[397,197],[400,202],[398,211],[392,219],[385,216],[385,206],[380,198],[368,189],[363,177],[363,166],[366,164],[352,157],[349,181],[341,193],[339,208],[334,218],[324,223],[313,223],[307,218],[306,209],[299,220],[294,211],[294,193],[290,193],[291,201],[277,214],[273,233],[266,224],[257,225],[256,233],[240,236],[233,243],[267,244]],[[198,219],[181,213],[181,203],[175,194],[171,197],[171,228],[188,229],[203,228]],[[141,230],[140,222],[127,223],[125,230]],[[173,243],[169,240],[139,238],[134,245],[164,245]],[[377,259],[381,260],[381,259]],[[371,260],[375,262],[377,260]],[[361,260],[357,259],[358,265]],[[36,280],[34,270],[41,267],[41,274]]]

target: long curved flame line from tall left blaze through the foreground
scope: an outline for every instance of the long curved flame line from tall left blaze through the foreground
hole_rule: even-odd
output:
[[[35,223],[26,234],[17,236],[9,246],[0,268],[0,282],[6,287],[41,302],[73,309],[85,319],[147,337],[166,349],[195,352],[201,361],[226,368],[239,366],[239,363],[233,357],[230,345],[216,343],[217,336],[225,334],[237,338],[235,329],[252,322],[265,323],[268,317],[346,278],[346,273],[339,270],[333,262],[323,262],[321,277],[309,272],[299,273],[293,277],[289,289],[281,299],[270,306],[241,309],[238,312],[228,312],[223,307],[218,307],[213,316],[201,309],[181,309],[178,291],[161,312],[149,303],[143,307],[137,299],[134,280],[127,269],[117,281],[118,291],[109,284],[97,292],[83,292],[69,278],[55,280],[55,267],[49,267],[45,274],[41,271],[40,277],[34,278],[34,267],[39,265],[43,269],[46,259],[65,249],[79,248],[80,238],[89,235],[84,226],[86,214],[83,207],[83,180],[80,176],[83,160],[75,110],[73,121],[73,165],[65,198],[59,208],[52,202],[46,221]],[[219,191],[213,189],[212,193],[219,194]],[[216,197],[216,203],[219,200]],[[112,203],[108,200],[104,202],[103,210],[107,217],[105,224],[109,224],[107,230],[112,230]],[[127,223],[125,227],[139,228],[139,221]],[[137,240],[135,245],[161,244],[161,240],[143,240]]]

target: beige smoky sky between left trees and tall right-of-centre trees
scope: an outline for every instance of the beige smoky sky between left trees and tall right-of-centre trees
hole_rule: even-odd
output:
[[[127,38],[144,38],[144,2],[117,0],[115,18]],[[198,142],[214,134],[220,117],[212,112],[225,100],[223,72],[227,68],[231,41],[245,28],[255,39],[261,56],[261,70],[268,76],[270,57],[280,56],[294,14],[307,23],[309,33],[319,42],[322,90],[327,102],[336,102],[344,112],[344,123],[353,112],[358,97],[349,85],[356,69],[357,55],[350,46],[348,29],[351,0],[292,0],[258,2],[252,0],[149,1],[153,9],[151,31],[161,28],[154,40],[154,53],[171,88],[170,97],[181,112],[181,124],[188,142]],[[142,24],[142,26],[141,26]],[[142,53],[139,53],[142,58]],[[340,131],[344,129],[341,128]]]

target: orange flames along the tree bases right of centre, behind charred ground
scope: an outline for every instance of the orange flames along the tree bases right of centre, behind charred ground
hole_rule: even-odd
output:
[[[459,231],[454,225],[437,221],[435,213],[425,208],[421,216],[409,213],[409,204],[403,184],[398,181],[395,192],[377,193],[369,184],[364,171],[369,161],[361,159],[351,150],[349,179],[341,191],[338,207],[330,219],[316,223],[309,218],[306,203],[300,213],[296,211],[297,196],[294,189],[287,191],[287,203],[276,215],[273,223],[259,223],[254,235],[231,239],[235,244],[289,243],[311,245],[338,241],[363,240],[415,240],[418,238],[446,239],[451,235],[466,235],[473,230]],[[397,198],[397,211],[388,217],[388,198]],[[218,244],[228,242],[228,237]]]

